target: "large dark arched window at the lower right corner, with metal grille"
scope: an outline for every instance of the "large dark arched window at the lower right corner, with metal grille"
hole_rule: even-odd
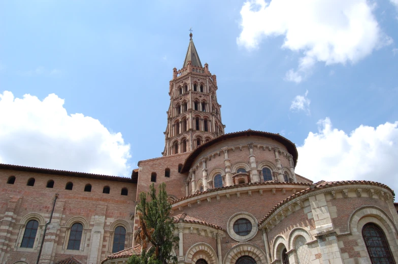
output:
[[[395,264],[388,241],[383,230],[375,223],[367,223],[362,228],[362,238],[372,264],[392,263]]]

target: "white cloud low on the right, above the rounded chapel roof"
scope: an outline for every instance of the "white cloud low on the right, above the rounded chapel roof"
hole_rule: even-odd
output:
[[[359,126],[351,133],[333,128],[329,118],[318,122],[297,147],[296,172],[319,180],[372,180],[398,191],[398,122]]]

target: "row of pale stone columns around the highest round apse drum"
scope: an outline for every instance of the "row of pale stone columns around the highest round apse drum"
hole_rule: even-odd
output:
[[[256,182],[260,182],[260,176],[259,173],[257,171],[257,161],[256,161],[256,156],[254,155],[254,149],[253,149],[253,143],[248,143],[247,144],[248,148],[249,148],[249,164],[250,164],[250,177],[251,177],[251,182],[252,183],[256,183]],[[223,182],[224,182],[224,186],[231,186],[233,185],[233,174],[231,172],[231,163],[230,163],[230,159],[228,157],[228,147],[224,147],[221,148],[221,150],[224,153],[224,169],[225,169],[225,175],[221,175],[223,178]],[[279,149],[278,147],[274,147],[274,153],[275,153],[275,164],[277,167],[277,172],[276,172],[276,178],[279,182],[284,182],[284,176],[283,176],[283,172],[282,172],[282,165],[281,165],[281,161],[280,161],[280,157],[279,154],[281,152],[281,149]],[[293,163],[293,159],[291,158],[291,156],[288,156],[288,160],[289,160],[289,170],[291,173],[291,177],[293,179],[294,182],[297,182],[295,173],[294,173],[294,163]],[[204,158],[202,159],[200,162],[202,163],[202,180],[203,180],[203,188],[204,191],[207,191],[207,189],[209,188],[209,184],[208,184],[208,168],[206,166],[206,161],[207,159]],[[193,166],[193,168],[197,167]],[[191,190],[192,193],[196,192],[196,174],[198,173],[199,169],[193,169],[191,168],[189,170],[189,176],[188,179],[191,182]],[[188,192],[186,195],[189,195]]]

